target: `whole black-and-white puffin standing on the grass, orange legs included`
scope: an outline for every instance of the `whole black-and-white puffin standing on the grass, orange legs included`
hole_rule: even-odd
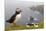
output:
[[[17,8],[15,14],[13,14],[13,16],[11,16],[11,18],[6,22],[16,25],[16,21],[19,21],[19,19],[21,18],[21,12],[21,9]]]

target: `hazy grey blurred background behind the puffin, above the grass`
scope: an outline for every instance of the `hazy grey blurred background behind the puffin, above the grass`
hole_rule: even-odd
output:
[[[22,9],[23,12],[21,20],[16,22],[18,25],[25,25],[26,23],[30,23],[30,20],[28,20],[30,16],[38,19],[37,21],[34,20],[34,23],[43,22],[43,2],[5,0],[5,21],[10,19],[10,17],[15,13],[16,8]]]

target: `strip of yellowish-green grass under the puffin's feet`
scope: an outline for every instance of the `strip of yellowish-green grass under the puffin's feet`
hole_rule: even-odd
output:
[[[5,31],[9,31],[9,30],[24,30],[24,29],[41,29],[41,28],[44,28],[44,23],[39,23],[38,27],[26,27],[26,26],[10,26],[10,27],[7,27],[5,28]]]

